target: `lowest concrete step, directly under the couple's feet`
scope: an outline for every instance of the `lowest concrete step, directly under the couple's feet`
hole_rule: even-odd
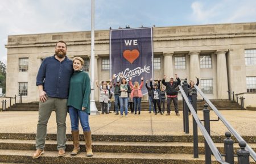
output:
[[[93,157],[85,157],[85,153],[79,153],[75,157],[69,155],[71,152],[66,152],[64,157],[57,157],[57,151],[46,151],[42,157],[32,159],[34,150],[0,150],[0,162],[20,162],[20,163],[172,163],[172,164],[204,164],[204,155],[199,155],[199,158],[193,158],[192,154],[151,154],[151,153],[100,153],[96,152]],[[236,160],[237,161],[237,160]],[[236,162],[237,163],[237,162]],[[254,162],[255,163],[255,162]],[[212,164],[217,164],[212,157]],[[250,162],[253,164],[253,162]]]

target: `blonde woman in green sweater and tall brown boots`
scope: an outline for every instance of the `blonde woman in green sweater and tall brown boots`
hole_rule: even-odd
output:
[[[89,126],[90,115],[90,78],[83,72],[84,60],[81,57],[73,58],[74,73],[69,83],[68,112],[71,119],[71,133],[73,138],[73,151],[71,155],[80,152],[79,144],[79,120],[84,132],[86,156],[93,156],[92,133]]]

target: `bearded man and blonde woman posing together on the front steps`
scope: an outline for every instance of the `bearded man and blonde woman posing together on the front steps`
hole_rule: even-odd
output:
[[[66,54],[67,44],[64,41],[58,41],[55,45],[55,54],[43,60],[36,77],[40,102],[36,130],[36,151],[32,155],[34,159],[44,154],[47,123],[53,110],[55,110],[57,122],[58,156],[62,157],[66,154],[66,117],[68,112],[73,138],[71,155],[80,152],[80,121],[84,134],[86,156],[93,156],[92,134],[89,126],[90,78],[88,73],[81,70],[84,60],[81,57],[69,60]]]

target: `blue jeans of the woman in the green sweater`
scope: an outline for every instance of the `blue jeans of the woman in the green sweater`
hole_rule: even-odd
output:
[[[76,108],[72,106],[68,106],[68,112],[69,112],[69,117],[71,120],[71,130],[72,131],[78,131],[79,130],[79,120],[82,126],[82,131],[88,132],[90,131],[90,126],[89,126],[89,115],[88,113],[77,110]]]

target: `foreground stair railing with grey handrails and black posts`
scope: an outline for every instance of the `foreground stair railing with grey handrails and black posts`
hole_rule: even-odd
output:
[[[193,116],[193,154],[195,158],[198,158],[198,133],[197,133],[197,126],[200,128],[200,131],[202,132],[204,138],[205,138],[205,164],[210,164],[212,159],[211,155],[213,154],[218,163],[230,163],[234,164],[234,148],[233,148],[233,143],[234,141],[230,138],[231,133],[237,138],[237,135],[234,133],[237,133],[234,131],[234,129],[227,124],[227,121],[224,119],[224,117],[217,111],[217,109],[213,106],[213,104],[207,99],[207,97],[201,92],[201,90],[195,86],[195,89],[192,90],[191,96],[192,96],[192,101],[189,102],[188,100],[188,89],[187,89],[187,81],[184,82],[184,85],[181,87],[179,86],[179,89],[181,91],[181,94],[183,96],[183,102],[184,102],[184,109],[183,109],[183,115],[184,115],[184,132],[188,133],[188,113],[190,110]],[[218,116],[217,120],[210,120],[210,110],[208,109],[208,104],[204,104],[204,119],[200,120],[199,116],[197,115],[197,91],[199,91],[199,94],[204,98],[204,100],[209,104],[209,106],[213,109],[214,112],[217,111],[216,115]],[[220,154],[216,146],[214,145],[214,142],[212,141],[212,138],[210,137],[210,121],[218,121],[218,120],[225,120],[224,124],[226,127],[228,127],[229,131],[231,132],[226,132],[225,136],[226,139],[224,140],[224,150],[225,154]],[[203,123],[204,122],[204,126]],[[223,121],[222,121],[223,122]],[[233,130],[230,130],[231,129]],[[238,134],[239,135],[239,134]],[[241,136],[240,136],[241,137]],[[240,150],[237,150],[237,155],[238,155],[238,164],[249,164],[249,155],[253,157],[254,159],[254,154],[253,150],[246,144],[246,142],[242,139],[240,140],[238,138],[239,145],[241,147]],[[247,149],[249,148],[249,149]],[[249,153],[250,152],[250,153]],[[252,153],[251,153],[252,152]],[[222,156],[225,157],[225,160],[222,159]],[[255,161],[255,159],[254,159]]]

